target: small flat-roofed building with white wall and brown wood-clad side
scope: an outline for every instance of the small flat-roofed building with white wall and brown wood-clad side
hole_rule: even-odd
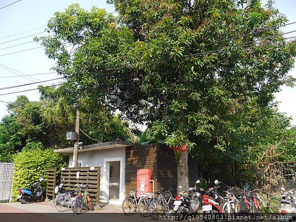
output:
[[[73,148],[56,149],[69,153],[73,164]],[[197,180],[197,162],[189,159],[189,185]],[[174,150],[160,144],[134,145],[122,141],[82,146],[78,149],[78,166],[101,167],[100,199],[121,204],[129,191],[137,189],[137,170],[150,169],[154,189],[177,185]],[[151,184],[152,186],[152,184]],[[152,187],[151,187],[152,190]]]

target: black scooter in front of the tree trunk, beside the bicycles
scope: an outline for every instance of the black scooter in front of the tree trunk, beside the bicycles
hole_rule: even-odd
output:
[[[188,196],[184,194],[176,195],[173,211],[177,214],[178,220],[185,219],[185,214],[197,213],[202,196],[200,191],[203,190],[202,188],[196,187],[199,183],[200,181],[198,180],[196,181],[194,187],[189,187],[185,190],[185,192],[188,193]],[[179,188],[182,187],[179,186]]]

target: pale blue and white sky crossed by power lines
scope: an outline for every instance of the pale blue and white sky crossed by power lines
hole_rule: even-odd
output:
[[[10,4],[16,0],[0,0],[0,7]],[[265,1],[265,0],[264,0]],[[30,29],[35,29],[37,27],[45,26],[50,17],[53,16],[56,11],[63,11],[70,4],[77,2],[84,9],[90,9],[92,6],[107,8],[108,12],[114,11],[113,7],[106,4],[105,0],[21,0],[15,4],[8,7],[0,9],[0,64],[7,67],[13,68],[24,74],[37,74],[37,73],[47,73],[51,72],[50,68],[54,65],[54,61],[48,59],[42,48],[29,50],[26,52],[11,54],[1,56],[6,53],[11,53],[15,51],[25,50],[29,48],[38,47],[39,44],[35,42],[27,43],[24,45],[19,45],[16,47],[11,47],[7,49],[2,49],[4,47],[9,47],[12,45],[28,42],[33,40],[33,37],[27,37],[7,43],[2,43],[15,38],[33,35],[42,32],[44,28],[40,28],[31,32],[23,33],[13,37],[6,37]],[[290,22],[296,21],[296,1],[295,0],[275,0],[276,7],[279,8],[280,12],[285,14]],[[290,25],[283,28],[284,32],[290,32],[296,30],[296,24]],[[39,36],[42,34],[39,34]],[[38,35],[36,35],[38,36]],[[287,35],[287,37],[296,36],[296,33]],[[296,69],[290,71],[290,74],[296,77]],[[7,75],[15,75],[7,70],[0,67],[0,77]],[[34,76],[40,80],[47,80],[60,77],[57,74],[44,74]],[[36,79],[32,79],[37,81]],[[13,77],[13,78],[0,78],[0,88],[12,85],[31,83],[28,79],[23,77]],[[58,83],[59,80],[50,81],[50,83]],[[46,84],[46,83],[44,83]],[[18,87],[11,90],[1,90],[0,94],[9,93],[13,91],[21,91],[30,88],[36,88],[37,84],[26,87]],[[16,99],[18,95],[26,95],[30,100],[38,100],[39,94],[37,90],[23,92],[19,94],[11,94],[0,96],[0,100],[11,102]],[[295,88],[282,87],[282,91],[276,94],[276,100],[280,102],[279,111],[286,112],[287,115],[292,116],[293,124],[296,124],[296,103],[294,102],[296,98]],[[0,103],[0,118],[7,113],[6,104]]]

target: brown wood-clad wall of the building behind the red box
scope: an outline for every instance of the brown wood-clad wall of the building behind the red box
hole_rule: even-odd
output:
[[[137,170],[151,169],[155,190],[177,185],[177,164],[174,150],[160,144],[141,145],[126,148],[125,189],[137,189]],[[197,180],[197,162],[189,158],[189,185]],[[151,188],[152,190],[152,188]],[[174,190],[176,191],[176,190]]]

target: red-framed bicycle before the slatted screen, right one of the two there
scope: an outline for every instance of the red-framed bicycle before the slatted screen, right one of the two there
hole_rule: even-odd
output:
[[[87,188],[90,188],[89,185],[75,185],[79,188],[78,195],[72,202],[72,211],[76,214],[81,214],[83,210],[91,210],[94,211],[94,207],[91,204],[91,200],[89,194],[87,192]],[[74,186],[74,187],[75,187]]]

